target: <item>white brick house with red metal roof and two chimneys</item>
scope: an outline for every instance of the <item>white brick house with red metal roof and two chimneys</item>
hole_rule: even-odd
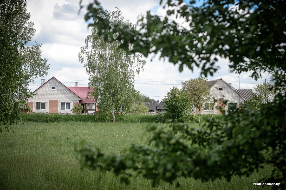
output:
[[[81,104],[89,113],[97,112],[96,100],[87,98],[88,92],[88,87],[79,87],[78,82],[68,87],[52,77],[47,82],[42,79],[41,86],[33,92],[36,95],[25,99],[36,113],[71,113],[76,104]]]

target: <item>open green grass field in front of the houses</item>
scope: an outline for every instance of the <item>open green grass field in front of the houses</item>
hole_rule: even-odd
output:
[[[82,140],[105,153],[120,154],[132,143],[148,145],[152,133],[146,132],[145,126],[146,123],[123,122],[15,125],[15,133],[0,133],[0,189],[271,189],[253,185],[269,175],[269,166],[250,177],[233,177],[230,183],[225,179],[208,182],[179,179],[179,188],[168,183],[152,188],[151,181],[140,176],[125,185],[111,172],[80,170],[75,147]]]

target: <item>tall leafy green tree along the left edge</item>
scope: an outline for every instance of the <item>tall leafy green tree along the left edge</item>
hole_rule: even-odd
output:
[[[9,0],[0,3],[0,131],[2,126],[9,131],[12,124],[21,121],[21,110],[27,108],[25,97],[30,97],[27,86],[38,72],[37,60],[41,52],[25,46],[34,35],[33,23],[28,21],[30,13],[26,1]],[[31,51],[27,51],[31,50]],[[33,56],[33,57],[31,57]],[[46,64],[46,59],[41,59]],[[40,62],[41,62],[40,61]],[[33,64],[29,64],[33,62]],[[48,66],[45,66],[47,69]],[[40,68],[42,69],[42,68]],[[45,72],[45,69],[41,70]],[[41,72],[40,72],[41,73]],[[41,75],[41,74],[40,74]]]

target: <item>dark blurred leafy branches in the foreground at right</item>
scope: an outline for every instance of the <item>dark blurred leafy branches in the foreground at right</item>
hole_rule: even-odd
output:
[[[250,72],[255,80],[268,72],[277,92],[273,103],[262,105],[258,111],[233,111],[225,116],[225,121],[209,122],[200,131],[174,124],[173,130],[154,134],[151,141],[156,149],[131,146],[130,154],[123,157],[84,149],[82,165],[98,166],[102,171],[112,168],[115,173],[126,173],[126,169],[132,168],[155,185],[160,179],[171,182],[180,176],[229,180],[233,175],[249,175],[263,163],[271,163],[275,170],[261,181],[284,182],[279,188],[285,189],[285,2],[206,0],[199,7],[194,3],[167,1],[166,16],[148,11],[138,21],[138,30],[102,17],[104,11],[96,6],[98,1],[88,6],[85,19],[98,19],[90,26],[97,27],[101,32],[98,35],[106,41],[113,33],[120,33],[116,40],[123,42],[121,48],[133,44],[129,53],[140,52],[146,57],[158,53],[179,64],[180,71],[186,65],[190,70],[200,68],[204,76],[212,76],[219,68],[218,59],[227,58],[231,72]],[[177,19],[172,20],[172,16]],[[117,162],[111,165],[108,160]],[[89,165],[90,162],[95,165]],[[127,182],[126,178],[123,180]]]

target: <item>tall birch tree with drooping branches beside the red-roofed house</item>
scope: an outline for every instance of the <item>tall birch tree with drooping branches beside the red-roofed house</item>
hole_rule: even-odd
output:
[[[106,13],[112,22],[134,28],[120,16],[120,9],[113,12],[106,10]],[[100,111],[112,113],[112,121],[115,122],[115,111],[122,102],[126,102],[127,95],[134,89],[135,74],[139,74],[146,61],[138,53],[127,55],[125,50],[118,48],[121,41],[107,42],[104,36],[99,37],[101,29],[93,27],[91,32],[86,37],[85,46],[80,48],[79,62],[84,64],[89,75],[90,95],[98,99]],[[118,33],[114,33],[109,38],[117,37]]]

